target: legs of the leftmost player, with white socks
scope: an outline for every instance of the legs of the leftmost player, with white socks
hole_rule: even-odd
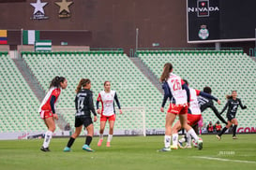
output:
[[[44,122],[46,126],[48,127],[48,131],[44,135],[44,142],[43,146],[41,147],[42,151],[50,151],[49,145],[52,139],[53,132],[56,129],[55,122],[53,120],[53,117],[45,118]]]

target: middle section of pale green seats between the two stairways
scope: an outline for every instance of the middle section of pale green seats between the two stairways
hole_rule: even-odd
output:
[[[145,106],[146,128],[164,128],[165,115],[160,113],[162,95],[158,89],[144,77],[124,52],[89,51],[89,52],[52,52],[23,53],[23,59],[38,78],[44,91],[49,89],[50,81],[55,76],[68,79],[68,88],[62,92],[57,107],[74,107],[75,90],[81,78],[90,78],[91,90],[96,101],[98,92],[103,90],[103,83],[109,80],[112,89],[117,92],[121,106]],[[74,113],[65,114],[65,119],[74,124]],[[118,123],[116,129],[126,129],[131,123]],[[120,116],[122,117],[122,116]],[[99,120],[95,127],[99,127]]]

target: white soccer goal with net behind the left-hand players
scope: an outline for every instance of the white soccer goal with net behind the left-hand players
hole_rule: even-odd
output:
[[[56,113],[63,117],[63,120],[56,121],[56,124],[62,127],[70,124],[70,127],[74,129],[75,121],[75,108],[73,107],[60,107],[56,109]],[[113,127],[113,135],[146,135],[145,128],[145,107],[144,106],[124,106],[122,107],[123,114],[120,114],[119,109],[115,110],[116,118]],[[92,114],[93,115],[93,114]],[[61,122],[60,122],[61,121]],[[98,135],[99,132],[99,115],[98,120],[94,122],[94,132]],[[106,123],[104,135],[109,134],[109,124]]]

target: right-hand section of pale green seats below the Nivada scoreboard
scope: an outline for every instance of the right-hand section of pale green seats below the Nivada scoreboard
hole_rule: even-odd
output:
[[[163,65],[173,64],[173,73],[187,79],[189,86],[202,90],[212,88],[212,94],[221,101],[220,111],[226,104],[225,95],[232,90],[238,92],[238,98],[248,106],[248,109],[238,109],[238,126],[254,127],[256,122],[256,63],[241,50],[139,50],[137,56],[157,78],[160,77]],[[226,112],[222,115],[226,117]],[[226,119],[226,118],[225,118]],[[206,124],[218,119],[211,110],[203,112],[203,122]]]

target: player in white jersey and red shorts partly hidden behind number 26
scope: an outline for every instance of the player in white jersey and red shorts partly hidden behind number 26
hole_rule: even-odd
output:
[[[186,82],[186,84],[188,85],[188,81],[184,79],[184,81]],[[199,106],[199,102],[198,102],[198,96],[201,95],[203,97],[207,97],[209,99],[212,100],[217,100],[218,104],[220,104],[220,101],[206,93],[206,92],[201,92],[199,90],[195,90],[192,88],[188,88],[189,92],[190,92],[190,106],[188,108],[188,125],[193,127],[194,125],[196,125],[199,120],[201,120],[202,118],[202,112]],[[171,149],[178,149],[177,146],[177,142],[178,142],[178,131],[181,129],[181,124],[180,124],[180,120],[177,120],[176,123],[173,126],[173,146],[171,147]],[[190,143],[191,143],[191,136],[187,134],[187,143],[188,146],[187,148],[191,148]],[[181,146],[180,146],[181,147]]]

